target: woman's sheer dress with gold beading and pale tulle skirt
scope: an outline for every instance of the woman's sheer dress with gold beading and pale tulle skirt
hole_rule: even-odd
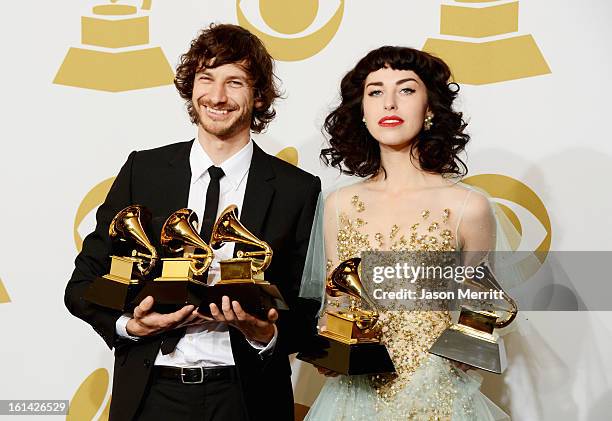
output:
[[[368,194],[367,181],[328,196],[315,224],[324,227],[323,238],[315,228],[311,238],[311,250],[313,239],[316,243],[319,237],[319,246],[323,244],[327,269],[367,250],[455,251],[466,205],[471,200],[487,202],[480,193],[458,185],[421,192],[414,200],[385,203],[379,198]],[[495,235],[489,221],[476,228],[485,237]],[[494,247],[495,239],[486,242]],[[307,266],[319,260],[310,254]],[[313,277],[308,272],[305,278]],[[302,291],[307,289],[304,279]],[[345,298],[326,298],[327,308],[345,305]],[[428,352],[450,324],[448,311],[383,310],[379,320],[396,375],[328,377],[306,420],[509,419],[480,392],[477,375]]]

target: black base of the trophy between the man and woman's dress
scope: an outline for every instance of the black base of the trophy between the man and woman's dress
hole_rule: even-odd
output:
[[[317,335],[299,360],[346,375],[395,373],[387,348],[381,343],[347,344]]]

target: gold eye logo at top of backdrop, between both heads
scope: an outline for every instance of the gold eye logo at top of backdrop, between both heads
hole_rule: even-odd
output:
[[[238,23],[257,35],[277,60],[304,60],[338,32],[344,0],[236,0]]]

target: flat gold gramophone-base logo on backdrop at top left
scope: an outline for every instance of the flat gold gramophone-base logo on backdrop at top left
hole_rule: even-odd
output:
[[[117,0],[111,0],[116,3]],[[151,0],[138,10],[103,4],[81,17],[84,48],[71,47],[53,80],[58,85],[123,92],[170,85],[174,72],[160,47],[149,46]]]

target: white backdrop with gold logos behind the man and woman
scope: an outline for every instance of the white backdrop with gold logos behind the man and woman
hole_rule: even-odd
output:
[[[239,24],[269,48],[284,98],[255,139],[324,188],[337,174],[318,160],[321,125],[341,77],[373,48],[422,48],[445,59],[461,85],[472,136],[465,181],[502,205],[522,235],[515,246],[544,255],[612,250],[606,0],[3,7],[0,399],[67,399],[67,420],[107,419],[112,353],[69,315],[64,287],[127,155],[194,137],[172,80],[179,55],[211,22]],[[508,370],[483,374],[483,392],[517,420],[607,418],[611,326],[607,312],[523,313],[506,336]],[[323,381],[293,361],[298,413]]]

